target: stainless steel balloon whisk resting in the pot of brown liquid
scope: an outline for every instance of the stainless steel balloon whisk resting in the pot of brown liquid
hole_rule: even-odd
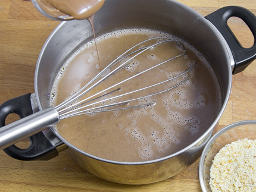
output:
[[[142,45],[145,42],[149,42],[152,40],[157,40],[157,43],[154,43],[152,45],[143,47],[143,48],[138,48],[138,46]],[[114,75],[115,73],[118,73],[119,71],[123,70],[127,66],[129,66],[129,62],[135,58],[138,55],[141,55],[143,52],[147,51],[148,49],[155,48],[158,45],[166,42],[174,42],[176,43],[184,52],[181,53],[180,55],[174,56],[170,59],[167,59],[166,61],[161,62],[160,64],[154,65],[153,67],[150,67],[146,70],[141,71],[138,74],[132,75],[129,78],[126,78],[123,81],[120,81],[113,86],[108,87],[107,89],[104,89],[98,93],[95,93],[92,96],[88,96],[85,99],[79,100],[80,97],[84,96],[86,93],[90,92],[93,88],[98,86],[102,81],[106,80],[107,78],[111,77],[111,75]],[[135,50],[136,49],[136,50]],[[135,51],[133,51],[135,50]],[[170,39],[168,37],[155,37],[151,38],[148,40],[145,40],[141,43],[138,43],[137,45],[133,46],[120,56],[116,58],[113,62],[111,62],[107,67],[104,68],[99,74],[97,74],[92,80],[89,81],[85,86],[82,87],[78,92],[76,92],[73,96],[69,97],[67,100],[65,100],[63,103],[60,105],[57,105],[55,107],[49,107],[46,109],[43,109],[42,111],[36,112],[35,114],[29,115],[29,117],[20,119],[18,121],[13,122],[12,124],[6,125],[5,127],[1,128],[0,131],[0,149],[5,149],[8,146],[11,146],[11,144],[15,144],[20,140],[26,139],[27,137],[32,136],[35,133],[38,133],[39,131],[42,131],[45,129],[45,127],[51,127],[53,125],[56,125],[60,120],[69,118],[69,117],[74,117],[77,115],[85,115],[85,114],[91,114],[91,113],[97,113],[97,112],[107,112],[107,111],[117,111],[117,110],[123,110],[123,109],[131,109],[131,108],[139,108],[142,106],[147,106],[147,105],[155,105],[156,102],[148,102],[143,105],[134,105],[134,106],[129,106],[125,107],[126,104],[129,102],[132,102],[133,100],[139,100],[143,99],[145,97],[150,97],[154,95],[158,95],[160,93],[167,92],[168,90],[174,89],[177,86],[180,86],[181,84],[185,83],[189,76],[186,77],[184,80],[181,80],[179,83],[177,83],[174,86],[168,87],[167,89],[157,91],[155,93],[151,93],[150,95],[142,95],[139,97],[135,97],[133,99],[127,99],[123,100],[121,102],[117,103],[111,103],[108,105],[103,105],[103,106],[95,106],[96,104],[105,102],[107,100],[113,100],[117,97],[123,97],[126,95],[132,95],[133,93],[136,92],[141,92],[142,90],[149,89],[151,87],[156,87],[159,86],[160,84],[166,83],[168,81],[174,80],[178,77],[181,77],[189,71],[191,71],[196,64],[193,64],[192,67],[190,67],[188,70],[184,71],[183,73],[176,75],[175,77],[172,78],[167,78],[167,80],[151,84],[146,87],[142,87],[141,89],[136,89],[128,93],[123,93],[121,95],[113,96],[107,99],[102,99],[102,97],[106,95],[110,95],[111,93],[117,92],[121,88],[115,89],[111,91],[116,86],[119,86],[120,84],[138,77],[138,75],[141,75],[143,73],[146,73],[147,71],[153,70],[154,68],[160,67],[160,65],[165,64],[166,62],[172,61],[174,59],[177,59],[183,55],[186,55],[185,52],[185,47],[181,42],[178,42],[176,40]],[[124,58],[130,57],[127,59],[127,61],[121,63],[118,67],[116,67],[114,70],[112,70],[110,73],[105,75],[103,78],[99,78],[102,76],[102,74],[106,73],[106,71],[110,70],[111,67],[114,65],[116,66],[120,61]],[[107,92],[107,93],[106,93]],[[119,107],[121,106],[121,107]]]

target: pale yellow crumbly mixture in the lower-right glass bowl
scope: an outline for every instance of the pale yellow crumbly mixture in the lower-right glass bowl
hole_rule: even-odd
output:
[[[256,191],[256,140],[226,144],[214,157],[211,191]]]

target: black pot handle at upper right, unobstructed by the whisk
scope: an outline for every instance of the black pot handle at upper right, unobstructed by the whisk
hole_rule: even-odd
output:
[[[233,34],[232,30],[227,25],[227,20],[230,17],[241,18],[247,24],[254,36],[254,45],[252,45],[251,48],[243,48],[238,39],[236,39],[235,34]],[[224,39],[226,39],[226,42],[232,51],[233,58],[235,59],[233,74],[245,70],[245,68],[256,58],[256,16],[246,8],[229,6],[220,8],[210,15],[207,15],[205,18],[207,18],[207,20],[218,29]]]

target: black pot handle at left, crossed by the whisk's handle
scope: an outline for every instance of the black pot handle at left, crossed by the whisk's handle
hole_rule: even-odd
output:
[[[7,100],[0,106],[0,128],[5,126],[8,114],[15,113],[20,118],[33,114],[30,93]],[[42,132],[29,137],[30,146],[20,149],[15,145],[7,147],[4,152],[18,160],[49,160],[58,155],[57,149],[46,139]]]

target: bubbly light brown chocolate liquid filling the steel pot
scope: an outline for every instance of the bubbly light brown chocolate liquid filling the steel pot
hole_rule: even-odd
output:
[[[98,37],[96,40],[102,67],[106,67],[133,45],[157,36],[179,40],[163,32],[145,29],[121,30]],[[130,74],[142,71],[142,68],[149,68],[184,53],[182,46],[178,44],[163,43],[149,49],[132,59],[125,69],[103,81],[83,98],[124,80]],[[181,74],[196,64],[186,76],[169,81],[161,87],[145,90],[144,94],[135,93],[126,98],[123,96],[110,101],[118,102],[152,94],[174,86],[189,76],[188,81],[174,89],[130,102],[127,106],[154,101],[157,102],[156,105],[71,117],[61,120],[55,128],[64,139],[77,148],[99,158],[122,162],[158,159],[188,146],[216,119],[221,108],[221,93],[217,78],[207,60],[188,43],[183,42],[183,45],[187,55],[173,59],[125,84],[120,84],[111,89],[121,88],[118,93],[105,96],[115,96],[149,86]],[[141,45],[143,46],[147,46],[146,43]],[[76,93],[98,73],[98,59],[94,42],[91,41],[74,53],[61,68],[52,87],[51,106],[63,102]]]

